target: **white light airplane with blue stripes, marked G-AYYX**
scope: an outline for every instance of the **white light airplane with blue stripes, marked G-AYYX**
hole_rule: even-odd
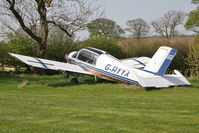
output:
[[[177,50],[161,46],[152,58],[138,57],[119,60],[106,51],[87,47],[73,51],[65,56],[66,63],[36,57],[9,53],[22,62],[33,67],[93,75],[120,83],[138,84],[142,87],[167,88],[170,86],[191,85],[178,71],[165,74]],[[76,76],[71,82],[77,83]]]

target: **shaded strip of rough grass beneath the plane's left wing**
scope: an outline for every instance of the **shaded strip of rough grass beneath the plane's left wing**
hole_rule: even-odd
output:
[[[100,83],[115,83],[107,80],[99,80],[96,82],[93,76],[80,75],[78,80],[79,83],[71,83],[71,79],[74,77],[72,75],[70,78],[65,79],[62,75],[37,75],[37,74],[27,74],[27,73],[14,73],[14,72],[3,72],[0,71],[0,83],[7,84],[8,81],[15,81],[21,83],[26,80],[31,84],[47,85],[50,87],[65,87],[65,86],[78,86],[83,84],[100,84]]]

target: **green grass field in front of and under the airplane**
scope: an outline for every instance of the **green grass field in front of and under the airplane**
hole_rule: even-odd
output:
[[[199,81],[151,89],[0,72],[0,133],[198,133]]]

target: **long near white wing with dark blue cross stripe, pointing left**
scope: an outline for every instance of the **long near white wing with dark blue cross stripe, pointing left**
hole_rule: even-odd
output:
[[[77,65],[64,63],[64,62],[58,62],[58,61],[52,61],[52,60],[46,60],[46,59],[40,59],[40,58],[35,58],[35,57],[30,57],[30,56],[24,56],[24,55],[19,55],[19,54],[13,54],[13,53],[9,53],[9,54],[13,57],[18,58],[19,60],[26,63],[27,65],[30,65],[33,67],[39,67],[39,68],[51,69],[51,70],[63,70],[63,71],[93,75],[90,72],[86,71],[85,69]]]

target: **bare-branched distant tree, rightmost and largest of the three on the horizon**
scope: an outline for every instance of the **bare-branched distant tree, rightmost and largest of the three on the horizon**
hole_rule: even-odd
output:
[[[163,37],[174,37],[178,34],[176,27],[183,24],[185,13],[182,11],[168,11],[163,17],[151,22],[156,33]]]

